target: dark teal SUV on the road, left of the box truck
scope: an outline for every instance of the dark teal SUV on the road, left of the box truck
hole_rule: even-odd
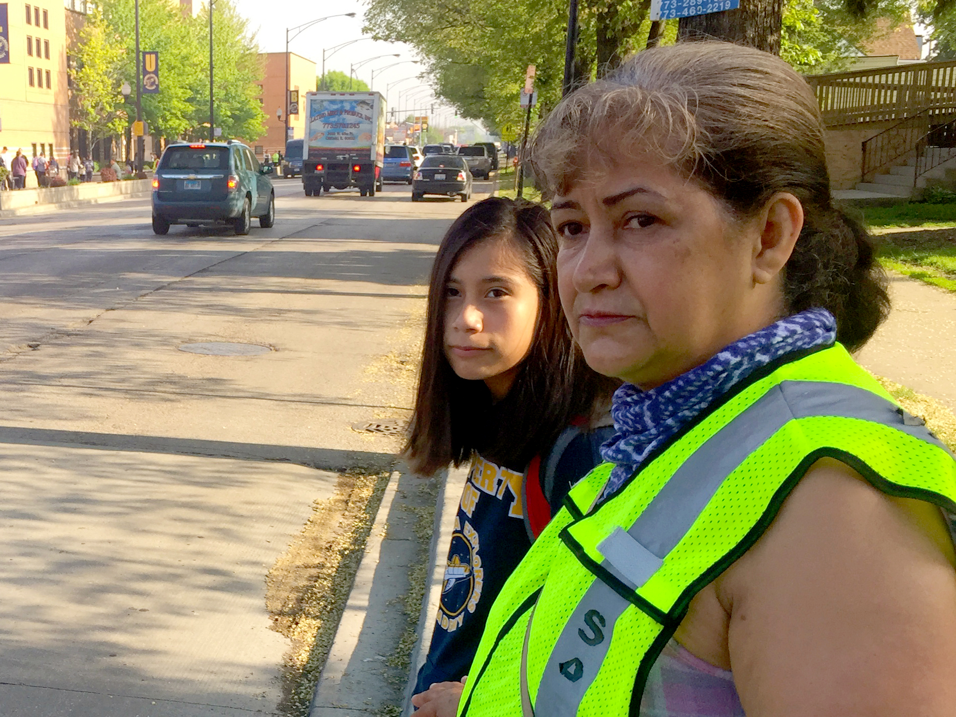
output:
[[[248,234],[252,217],[260,227],[272,227],[273,172],[238,141],[170,144],[153,176],[153,231],[165,234],[173,224],[230,224],[237,234]]]

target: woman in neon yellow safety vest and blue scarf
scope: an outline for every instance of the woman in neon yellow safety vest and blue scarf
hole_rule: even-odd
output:
[[[846,351],[888,301],[813,92],[755,50],[650,50],[533,152],[572,333],[627,382],[610,463],[424,715],[951,715],[956,462]]]

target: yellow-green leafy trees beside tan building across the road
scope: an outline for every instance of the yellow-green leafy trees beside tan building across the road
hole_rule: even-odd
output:
[[[134,0],[103,0],[80,34],[76,52],[75,126],[99,137],[120,134],[135,118]],[[143,119],[153,134],[208,137],[209,55],[206,9],[184,15],[171,0],[141,0],[140,46],[160,54],[160,92],[142,96]],[[249,22],[231,0],[213,11],[215,121],[224,137],[254,141],[265,131],[256,96],[263,67]],[[123,81],[134,92],[125,102]],[[205,125],[205,126],[204,126]]]

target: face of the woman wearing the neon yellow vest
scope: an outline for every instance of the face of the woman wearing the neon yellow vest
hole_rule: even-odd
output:
[[[660,385],[782,311],[778,287],[754,281],[761,229],[658,160],[586,177],[552,221],[561,304],[605,376]]]

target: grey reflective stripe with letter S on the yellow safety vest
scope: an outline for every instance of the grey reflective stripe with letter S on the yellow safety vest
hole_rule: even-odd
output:
[[[813,416],[890,425],[948,450],[921,420],[908,416],[871,391],[844,383],[783,381],[698,448],[629,530],[616,528],[599,543],[598,549],[604,556],[601,567],[632,590],[640,588],[657,573],[664,557],[750,453],[793,419]],[[545,667],[538,694],[548,696],[548,706],[541,714],[576,715],[581,698],[607,654],[615,623],[630,604],[607,583],[595,580],[591,584],[554,644]],[[530,628],[531,624],[529,632]],[[582,660],[584,654],[586,659]],[[522,678],[527,680],[526,675]]]

